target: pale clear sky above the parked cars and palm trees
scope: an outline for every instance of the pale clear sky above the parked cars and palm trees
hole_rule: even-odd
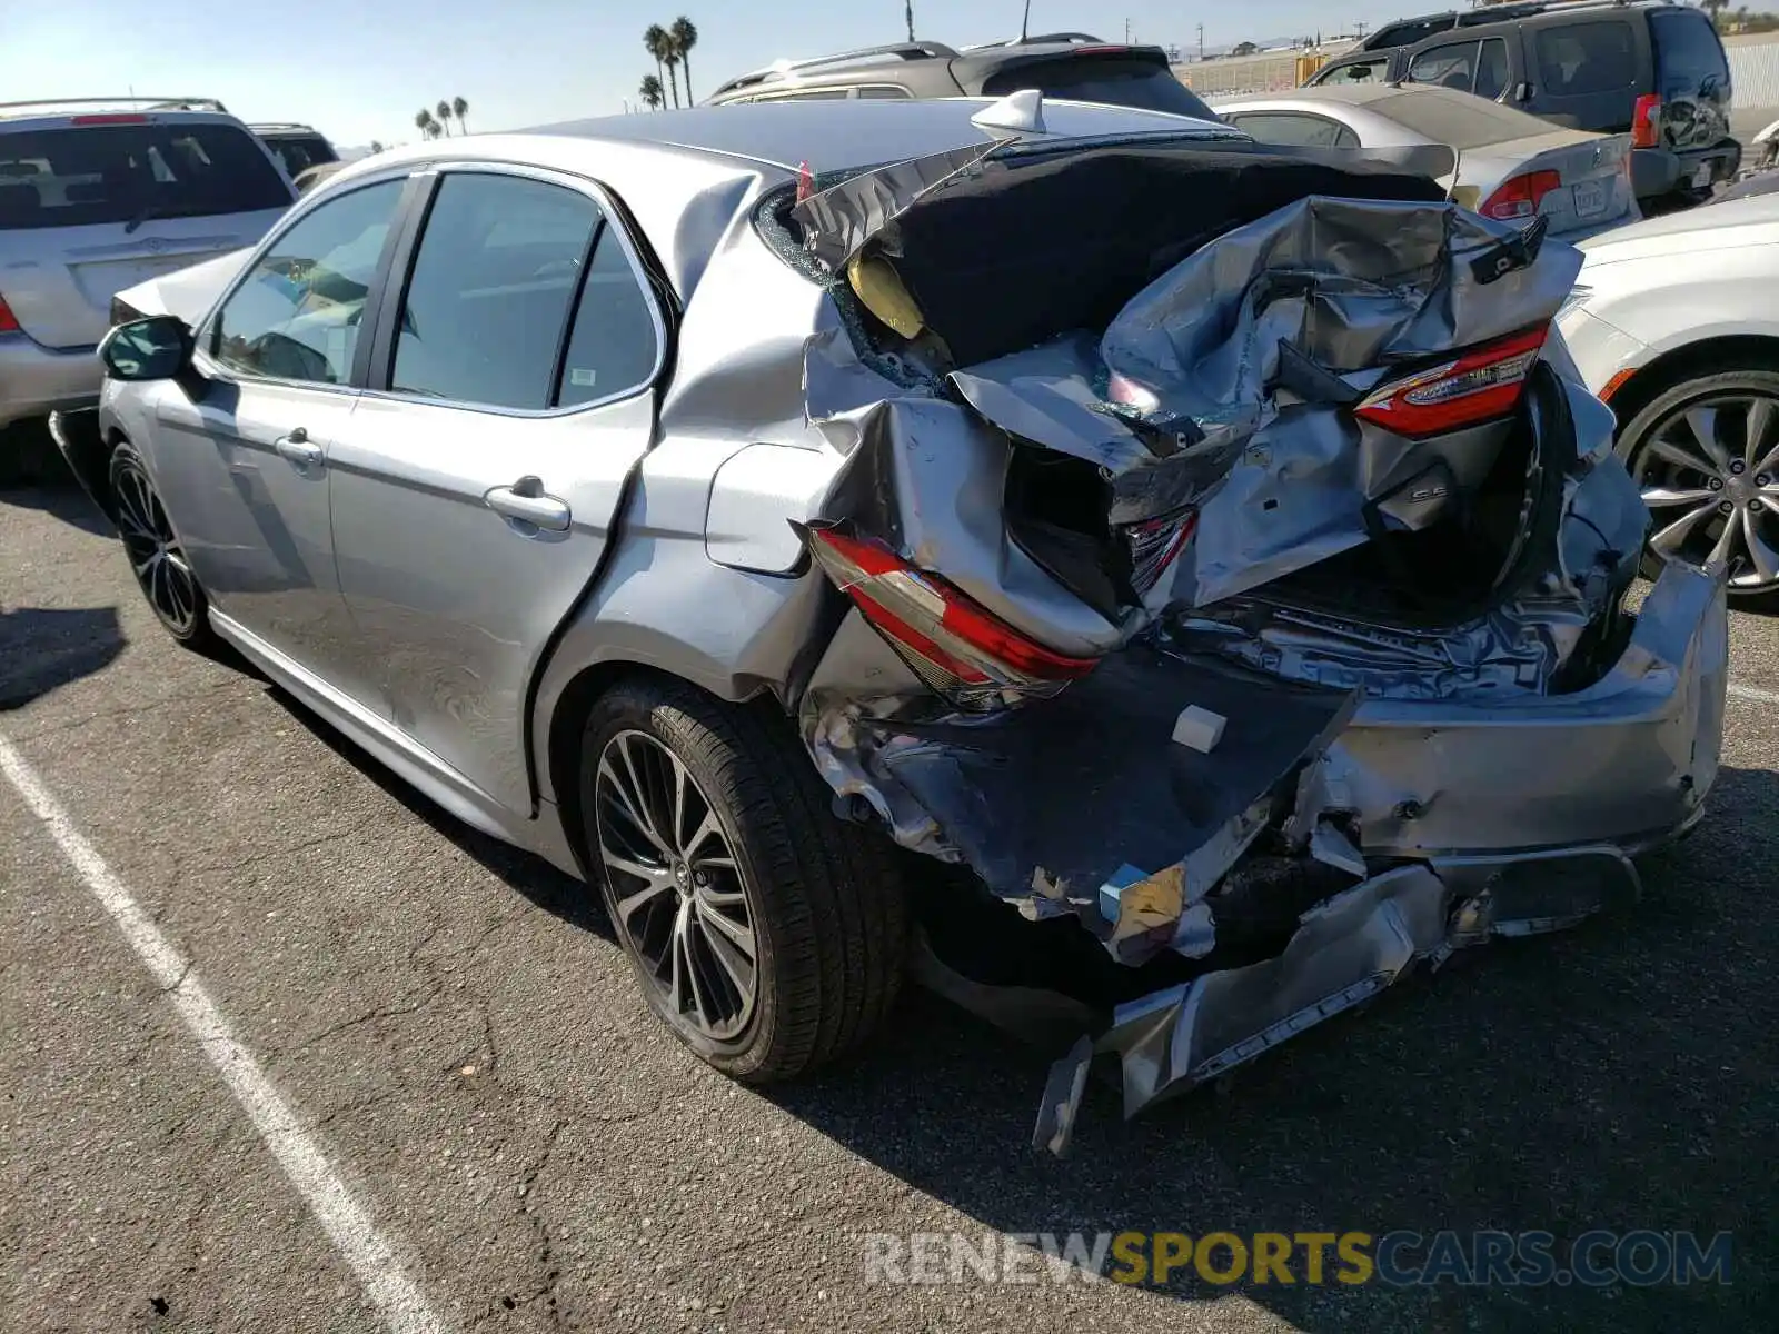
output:
[[[1437,9],[1439,4],[1429,4]],[[1377,25],[1389,0],[1032,0],[1032,28],[1190,50]],[[205,94],[244,119],[310,121],[336,144],[415,139],[441,96],[471,130],[605,116],[655,64],[642,28],[699,28],[692,91],[779,57],[904,36],[902,0],[0,0],[0,98]],[[952,44],[1019,30],[1019,0],[914,0],[914,32]]]

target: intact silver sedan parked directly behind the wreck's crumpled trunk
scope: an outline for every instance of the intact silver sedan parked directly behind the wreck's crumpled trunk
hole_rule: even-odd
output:
[[[1630,135],[1558,130],[1512,107],[1443,87],[1334,84],[1235,98],[1217,112],[1265,144],[1304,148],[1457,149],[1443,185],[1466,208],[1501,222],[1550,221],[1580,240],[1637,219]]]

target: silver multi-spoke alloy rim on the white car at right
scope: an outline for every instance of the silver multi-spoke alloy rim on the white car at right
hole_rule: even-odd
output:
[[[1633,475],[1654,514],[1651,551],[1727,564],[1736,592],[1779,589],[1779,400],[1724,393],[1676,409]]]

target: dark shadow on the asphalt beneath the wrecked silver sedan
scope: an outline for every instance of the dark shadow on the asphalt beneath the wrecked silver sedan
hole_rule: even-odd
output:
[[[580,880],[459,824],[274,695],[495,877],[614,939]],[[1115,1071],[1096,1071],[1107,1078],[1087,1092],[1067,1160],[1028,1147],[1060,1053],[925,992],[906,994],[861,1055],[760,1096],[978,1233],[1542,1229],[1558,1256],[1596,1227],[1735,1234],[1727,1288],[1318,1288],[1299,1263],[1292,1286],[1176,1275],[1149,1288],[1153,1300],[1240,1291],[1302,1330],[1767,1330],[1779,1254],[1779,775],[1726,768],[1710,818],[1642,872],[1635,909],[1461,953],[1261,1057],[1224,1090],[1124,1122]],[[868,1224],[836,1236],[840,1254],[863,1256]]]

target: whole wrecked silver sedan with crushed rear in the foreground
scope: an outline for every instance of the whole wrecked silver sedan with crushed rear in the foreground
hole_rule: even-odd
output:
[[[1137,1112],[1699,820],[1724,571],[1626,610],[1539,226],[1032,94],[665,126],[347,167],[57,430],[176,637],[601,886],[719,1069],[913,948],[1069,1049],[1060,1151],[1096,1053]]]

